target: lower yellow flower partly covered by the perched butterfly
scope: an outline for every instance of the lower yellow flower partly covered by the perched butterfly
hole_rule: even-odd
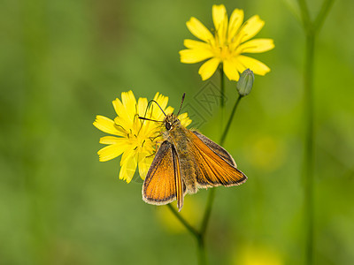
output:
[[[168,97],[157,93],[154,100],[165,113],[173,112],[172,107],[167,107]],[[119,178],[129,183],[138,166],[140,177],[144,179],[162,140],[160,133],[163,127],[161,123],[144,121],[139,117],[162,121],[165,117],[164,113],[154,102],[147,109],[146,98],[139,98],[136,102],[132,91],[123,92],[121,101],[117,98],[112,103],[117,113],[114,121],[97,115],[94,122],[97,129],[115,135],[100,139],[100,143],[108,146],[98,151],[99,160],[108,161],[123,154],[120,160]],[[181,114],[179,118],[182,125],[187,126],[191,123],[187,113]]]

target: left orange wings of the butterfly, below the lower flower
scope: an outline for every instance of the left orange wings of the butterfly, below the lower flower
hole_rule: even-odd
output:
[[[180,163],[173,145],[165,140],[151,163],[142,186],[142,200],[150,204],[163,205],[174,201],[183,206],[186,186],[181,179]]]

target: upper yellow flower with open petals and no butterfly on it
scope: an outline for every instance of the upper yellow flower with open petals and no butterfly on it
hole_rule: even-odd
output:
[[[244,53],[260,53],[274,48],[272,39],[254,39],[265,25],[258,15],[243,22],[243,11],[235,9],[230,20],[227,19],[227,10],[223,4],[212,6],[212,20],[215,32],[212,34],[196,18],[187,22],[189,31],[203,42],[184,40],[187,49],[180,51],[181,63],[195,64],[207,60],[199,68],[202,79],[209,79],[223,64],[223,70],[230,80],[238,80],[239,72],[247,68],[258,75],[265,75],[270,69],[258,60],[243,56]]]

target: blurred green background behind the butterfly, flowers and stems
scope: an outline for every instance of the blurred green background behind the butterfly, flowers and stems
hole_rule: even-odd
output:
[[[321,1],[312,1],[312,11]],[[0,10],[0,264],[196,264],[196,244],[141,183],[99,163],[97,114],[112,100],[181,95],[194,104],[201,64],[181,64],[185,23],[212,27],[212,4],[266,26],[275,49],[255,55],[256,76],[225,148],[249,180],[217,190],[207,237],[211,264],[302,264],[304,33],[289,1],[2,1]],[[354,2],[335,1],[315,63],[315,264],[354,264]],[[219,85],[215,74],[212,84]],[[227,81],[227,110],[237,92]],[[199,129],[220,136],[200,110]],[[198,223],[206,191],[182,214]],[[258,263],[257,263],[258,262]]]

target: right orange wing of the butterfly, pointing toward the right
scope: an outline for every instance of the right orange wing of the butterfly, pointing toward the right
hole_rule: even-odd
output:
[[[196,133],[190,132],[190,139],[198,168],[196,182],[200,187],[239,186],[247,180],[242,171],[236,169],[234,159],[224,148],[220,149],[212,140],[212,144],[205,143]]]

